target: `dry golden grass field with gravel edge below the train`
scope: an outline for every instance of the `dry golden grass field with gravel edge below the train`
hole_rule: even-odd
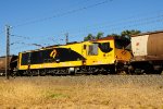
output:
[[[163,109],[163,75],[0,77],[0,109]]]

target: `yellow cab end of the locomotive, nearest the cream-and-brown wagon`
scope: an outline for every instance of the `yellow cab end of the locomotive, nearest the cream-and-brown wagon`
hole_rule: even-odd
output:
[[[93,45],[88,46],[86,64],[100,64],[100,66],[105,68],[109,73],[127,73],[131,53],[125,48],[129,43],[128,39],[121,37],[105,37],[95,40],[92,43]]]

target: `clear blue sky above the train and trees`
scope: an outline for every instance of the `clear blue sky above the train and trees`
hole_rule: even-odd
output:
[[[98,32],[163,31],[163,0],[0,0],[0,56],[5,55],[5,25],[10,53],[50,45],[83,41]]]

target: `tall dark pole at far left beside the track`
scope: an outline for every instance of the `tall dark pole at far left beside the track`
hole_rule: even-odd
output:
[[[5,77],[9,80],[10,74],[9,74],[9,69],[10,69],[10,63],[9,63],[9,56],[10,56],[10,26],[5,25],[5,35],[7,35],[7,56],[5,56]]]

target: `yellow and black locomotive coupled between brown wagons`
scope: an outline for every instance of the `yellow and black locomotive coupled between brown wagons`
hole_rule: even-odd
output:
[[[106,37],[20,52],[18,73],[21,75],[55,75],[127,72],[131,53],[125,49],[126,44],[126,39]]]

